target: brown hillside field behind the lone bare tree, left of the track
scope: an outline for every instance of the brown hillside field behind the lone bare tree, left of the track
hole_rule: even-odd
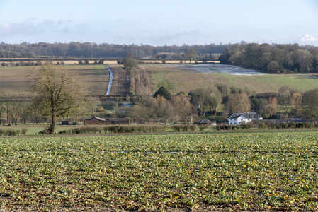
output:
[[[108,88],[109,73],[103,65],[66,66],[69,71],[87,85],[90,95],[105,95]],[[1,67],[0,90],[5,90],[15,97],[28,97],[26,72],[28,67]]]

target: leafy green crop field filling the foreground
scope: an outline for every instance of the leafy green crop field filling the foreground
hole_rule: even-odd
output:
[[[318,210],[318,131],[0,138],[0,208]]]

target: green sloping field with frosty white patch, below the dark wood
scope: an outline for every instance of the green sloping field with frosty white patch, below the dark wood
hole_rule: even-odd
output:
[[[171,93],[202,88],[224,83],[235,88],[247,89],[254,93],[277,92],[282,86],[306,91],[317,88],[318,80],[308,74],[261,74],[254,70],[246,71],[237,67],[235,70],[215,68],[221,64],[152,64],[141,67],[152,76],[154,90],[165,86]],[[242,71],[243,70],[243,71]]]

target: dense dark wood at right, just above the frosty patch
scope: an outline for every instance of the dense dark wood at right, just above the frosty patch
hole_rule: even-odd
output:
[[[232,45],[220,56],[223,64],[234,64],[267,73],[318,73],[318,47],[306,45]]]

